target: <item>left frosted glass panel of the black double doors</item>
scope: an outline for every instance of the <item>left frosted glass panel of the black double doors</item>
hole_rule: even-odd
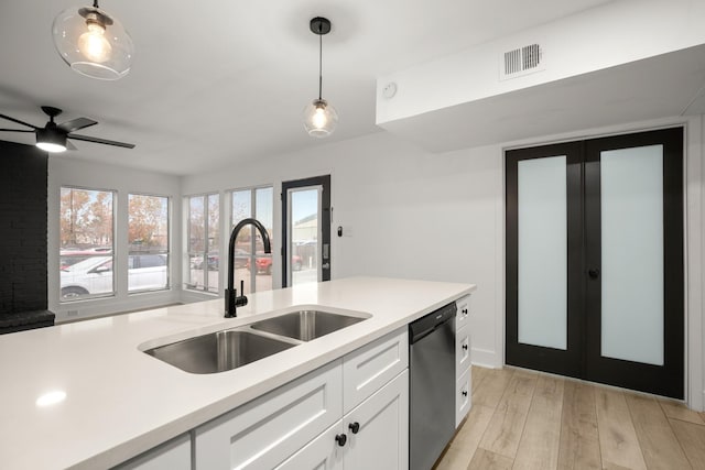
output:
[[[519,342],[567,347],[566,157],[518,164]]]

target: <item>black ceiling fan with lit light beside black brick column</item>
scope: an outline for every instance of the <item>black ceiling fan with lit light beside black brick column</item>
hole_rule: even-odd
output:
[[[42,111],[48,116],[48,122],[43,128],[30,124],[29,122],[20,121],[19,119],[11,118],[6,114],[0,114],[0,118],[8,121],[17,122],[18,124],[26,125],[32,130],[24,129],[0,129],[0,132],[34,132],[36,136],[36,146],[46,152],[64,152],[66,149],[76,150],[76,147],[67,141],[67,139],[74,139],[85,142],[101,143],[106,145],[122,146],[126,149],[134,149],[134,144],[109,141],[106,139],[91,138],[88,135],[75,134],[74,131],[85,129],[90,125],[95,125],[98,121],[94,121],[88,118],[77,118],[70,121],[57,124],[54,122],[54,118],[62,113],[62,110],[51,106],[43,106]]]

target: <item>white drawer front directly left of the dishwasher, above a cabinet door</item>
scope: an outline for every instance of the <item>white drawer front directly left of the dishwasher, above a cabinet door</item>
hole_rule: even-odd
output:
[[[403,327],[343,358],[344,413],[409,368],[409,329]]]

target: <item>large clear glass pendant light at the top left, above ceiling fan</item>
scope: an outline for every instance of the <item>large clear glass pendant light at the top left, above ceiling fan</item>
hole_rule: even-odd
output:
[[[117,80],[130,72],[134,46],[122,24],[98,7],[70,7],[52,25],[56,51],[70,68],[101,80]]]

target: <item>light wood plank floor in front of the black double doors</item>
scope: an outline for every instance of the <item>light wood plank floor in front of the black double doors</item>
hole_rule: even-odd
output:
[[[436,469],[705,470],[705,414],[539,372],[473,367],[473,408]]]

